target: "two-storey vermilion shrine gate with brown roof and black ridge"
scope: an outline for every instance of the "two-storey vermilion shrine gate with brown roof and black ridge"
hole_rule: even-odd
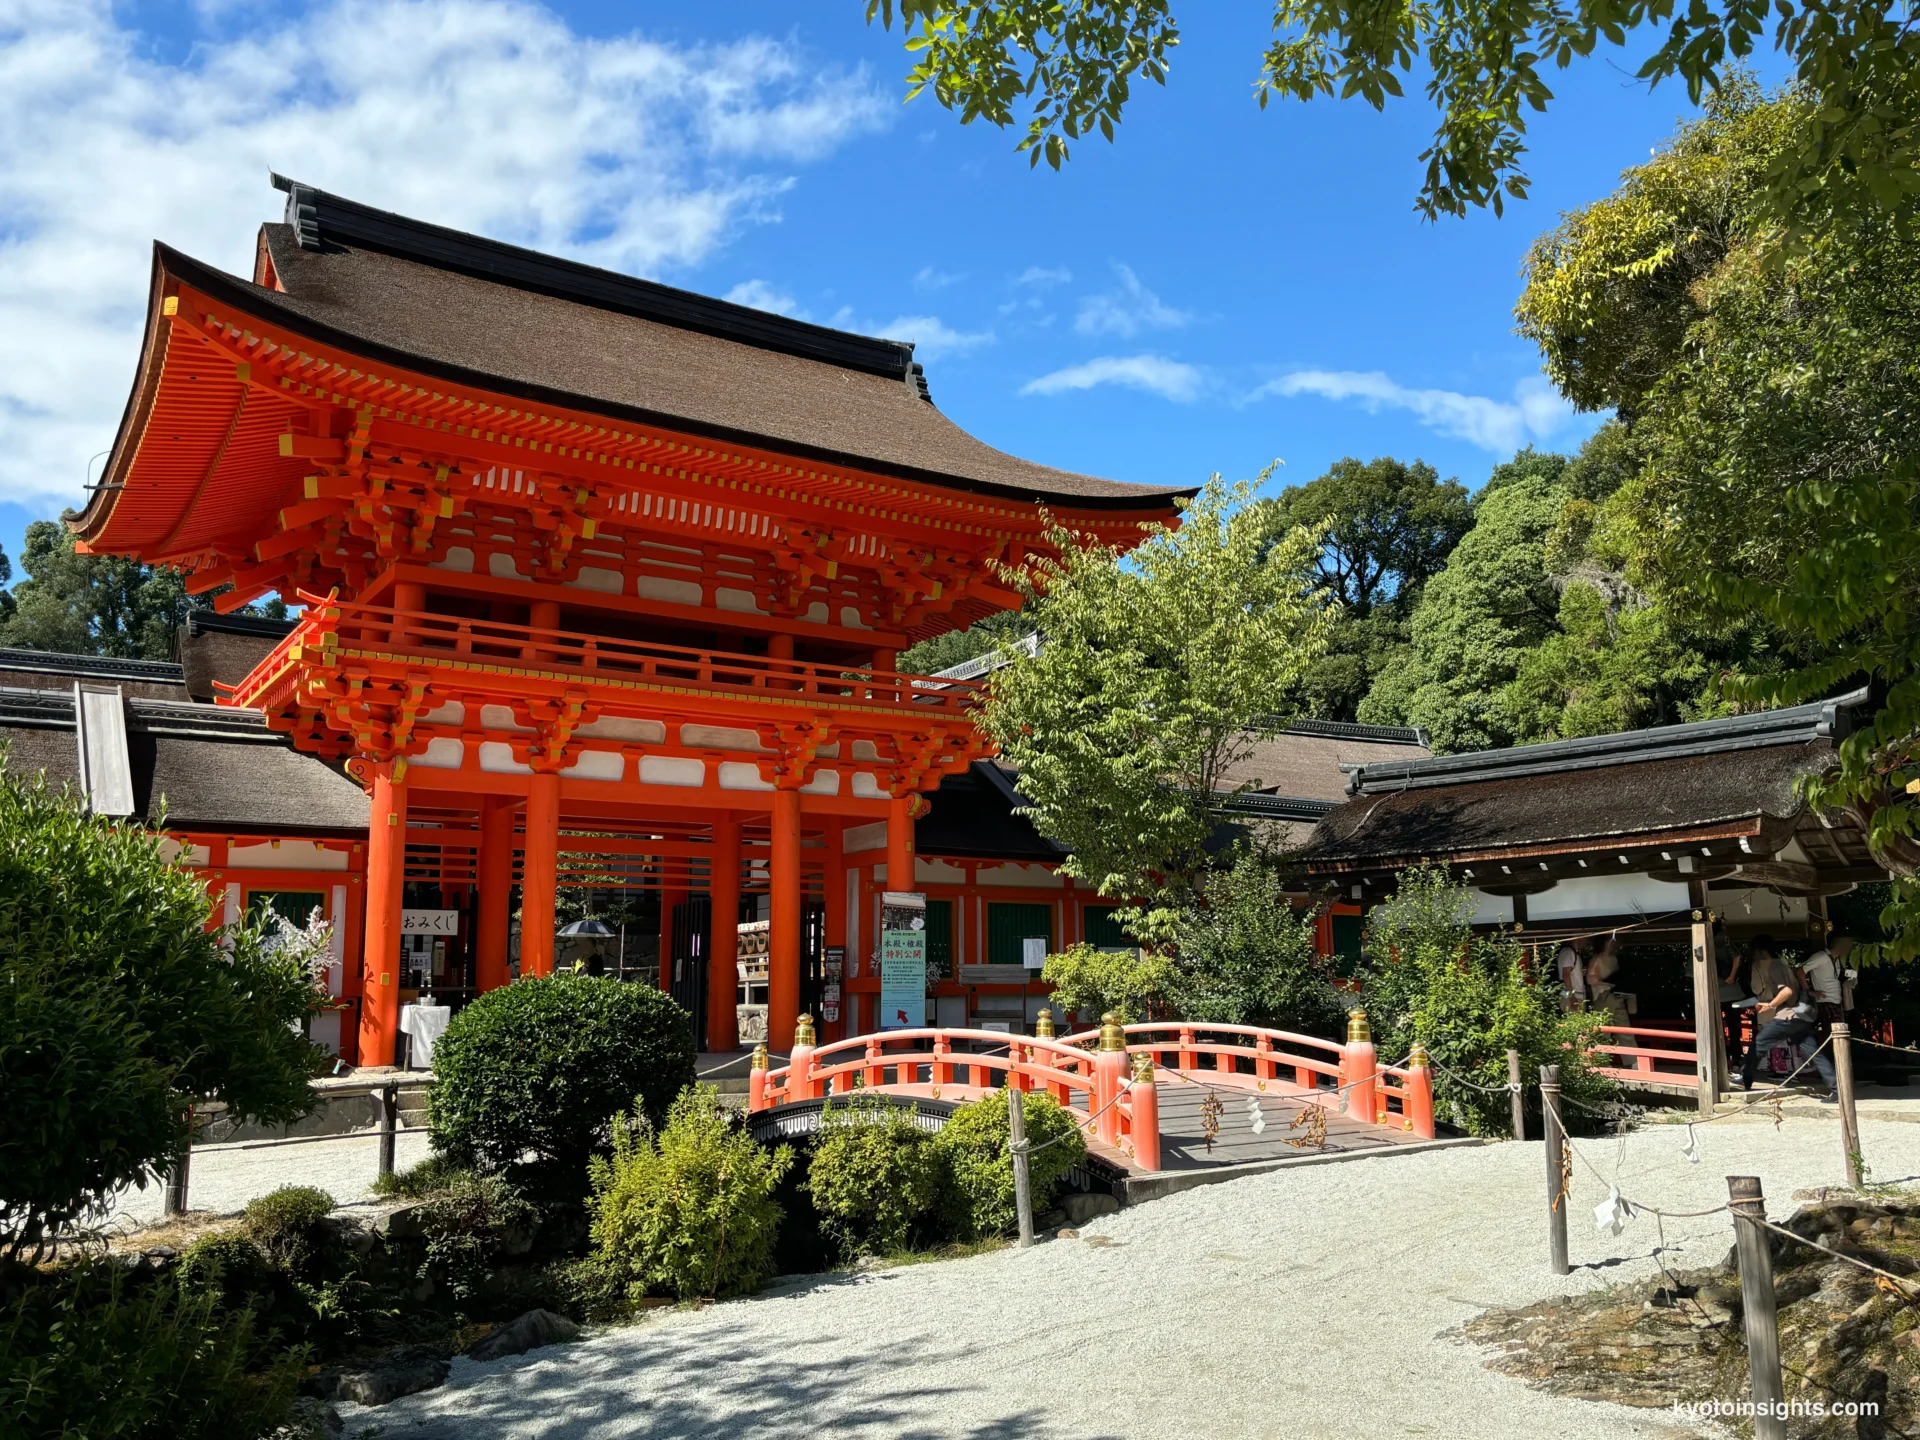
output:
[[[952,979],[993,970],[973,989],[1025,1014],[1044,987],[1020,972],[1021,925],[1060,948],[1100,916],[1029,841],[962,833],[916,862],[943,781],[981,791],[989,829],[1012,799],[983,762],[979,682],[895,659],[1018,607],[1000,566],[1044,551],[1048,515],[1125,547],[1192,488],[981,444],[902,342],[275,184],[286,219],[261,227],[252,280],[156,244],[132,396],[73,528],[219,589],[215,611],[303,611],[196,630],[167,684],[207,695],[61,676],[67,708],[17,701],[21,724],[75,730],[83,789],[113,724],[134,787],[159,785],[167,737],[303,766],[273,803],[196,814],[182,862],[217,889],[240,851],[275,883],[313,872],[359,1064],[392,1064],[415,989],[409,887],[457,912],[468,991],[509,979],[515,885],[526,975],[555,968],[561,887],[653,887],[660,983],[712,1050],[737,1044],[737,920],[770,922],[783,1050],[803,1006],[826,1006],[826,1039],[879,1025],[879,893],[920,889],[945,904]],[[123,693],[111,724],[102,684]],[[824,952],[843,977],[824,981]]]

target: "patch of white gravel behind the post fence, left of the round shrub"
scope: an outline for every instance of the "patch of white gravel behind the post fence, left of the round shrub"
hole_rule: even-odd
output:
[[[399,1169],[426,1160],[426,1131],[401,1131],[394,1137],[394,1164]],[[348,1206],[372,1194],[380,1173],[380,1135],[330,1135],[298,1144],[213,1144],[194,1150],[186,1171],[186,1208],[230,1215],[248,1200],[278,1190],[282,1185],[317,1185]],[[109,1225],[132,1229],[152,1225],[161,1217],[165,1188],[148,1185],[144,1190],[121,1190]]]

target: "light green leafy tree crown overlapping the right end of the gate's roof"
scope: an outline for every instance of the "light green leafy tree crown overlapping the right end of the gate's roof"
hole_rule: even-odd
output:
[[[1125,557],[1052,528],[1060,559],[1010,574],[1046,636],[996,672],[981,716],[1020,768],[1025,812],[1100,895],[1177,895],[1235,785],[1231,766],[1284,722],[1275,693],[1325,647],[1308,530],[1273,538],[1246,486],[1206,486],[1179,528]]]

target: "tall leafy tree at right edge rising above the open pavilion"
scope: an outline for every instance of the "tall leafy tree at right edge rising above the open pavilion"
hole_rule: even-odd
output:
[[[1720,253],[1692,261],[1684,292],[1588,303],[1594,286],[1578,278],[1674,263],[1668,236],[1724,207],[1728,173],[1793,161],[1811,104],[1747,90],[1682,127],[1615,196],[1536,248],[1521,317],[1578,397],[1634,415],[1638,465],[1594,516],[1594,543],[1684,622],[1745,626],[1764,641],[1728,666],[1730,693],[1778,705],[1872,685],[1872,722],[1807,793],[1851,810],[1901,877],[1884,954],[1910,958],[1920,238],[1862,221],[1789,244],[1764,211],[1736,205]]]

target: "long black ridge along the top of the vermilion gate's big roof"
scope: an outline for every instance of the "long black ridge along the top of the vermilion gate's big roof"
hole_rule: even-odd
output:
[[[735,340],[758,349],[918,384],[914,346],[906,340],[883,340],[795,321],[732,300],[678,290],[659,280],[641,280],[620,271],[605,271],[576,259],[561,259],[503,240],[453,230],[445,225],[417,221],[411,215],[374,209],[284,175],[269,179],[275,190],[286,192],[286,225],[294,230],[301,250],[324,252],[328,246],[378,250],[397,259],[459,271],[555,300],[570,300],[595,309],[672,324],[680,330]]]

